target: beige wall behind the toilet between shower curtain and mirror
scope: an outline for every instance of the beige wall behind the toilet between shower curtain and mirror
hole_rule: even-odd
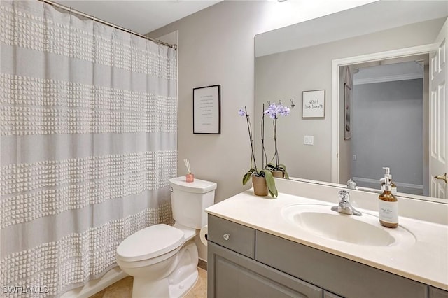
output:
[[[253,37],[262,6],[224,1],[151,33],[179,31],[178,174],[190,159],[196,178],[218,183],[215,201],[244,190],[250,146],[241,106],[253,110]],[[221,84],[221,134],[193,134],[193,88]]]

